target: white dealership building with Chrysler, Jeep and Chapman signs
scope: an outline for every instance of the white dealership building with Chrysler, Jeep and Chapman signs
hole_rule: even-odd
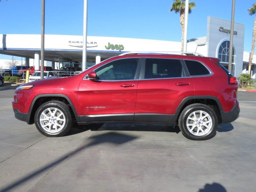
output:
[[[220,58],[220,62],[228,67],[230,21],[208,16],[206,36],[188,40],[187,51],[203,56]],[[40,35],[0,34],[0,54],[26,58],[26,65],[40,65]],[[45,35],[44,59],[47,66],[82,65],[82,36]],[[116,38],[87,37],[87,66],[117,56],[124,52],[177,52],[181,50],[181,42]],[[234,40],[232,55],[232,73],[239,76],[248,70],[249,52],[244,52],[244,24],[234,24]],[[253,58],[252,78],[256,78],[256,55]]]

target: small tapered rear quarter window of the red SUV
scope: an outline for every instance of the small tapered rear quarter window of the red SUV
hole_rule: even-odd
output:
[[[208,69],[202,63],[197,61],[190,61],[190,60],[184,60],[184,61],[186,63],[190,76],[210,74]]]

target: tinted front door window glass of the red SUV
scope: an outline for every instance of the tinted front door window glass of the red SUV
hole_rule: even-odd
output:
[[[137,58],[120,59],[94,70],[99,80],[133,80],[138,66]]]

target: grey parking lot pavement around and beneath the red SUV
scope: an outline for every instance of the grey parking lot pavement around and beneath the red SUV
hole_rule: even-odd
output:
[[[47,138],[14,118],[16,87],[0,88],[0,191],[256,191],[256,93],[206,141],[159,125],[104,124]]]

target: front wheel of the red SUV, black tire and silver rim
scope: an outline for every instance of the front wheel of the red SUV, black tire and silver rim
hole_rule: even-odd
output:
[[[47,116],[47,118],[45,118],[46,120],[43,121],[42,124],[44,124],[44,125],[50,124],[50,126],[46,126],[46,128],[44,129],[42,127],[42,124],[40,123],[40,116],[42,115],[43,117],[45,117],[42,114],[42,112],[44,112],[45,110],[48,111],[48,113],[47,114],[45,113],[45,114],[49,115],[51,113],[49,110],[50,108],[57,109],[56,116],[54,116],[54,118],[52,118],[53,116],[52,117]],[[57,116],[59,114],[61,114],[61,112],[63,113],[63,115],[61,117],[65,121],[56,120],[56,118],[58,118]],[[51,113],[51,115],[52,115],[52,113]],[[68,131],[72,127],[72,115],[70,113],[69,106],[67,104],[65,104],[64,102],[49,101],[49,102],[46,102],[46,103],[42,104],[41,106],[39,106],[39,108],[36,110],[34,122],[36,124],[36,128],[38,129],[38,131],[40,133],[42,133],[43,135],[48,136],[48,137],[60,137],[60,136],[64,136],[66,133],[68,133]],[[60,130],[58,130],[57,124],[62,126],[62,128],[60,128]],[[57,127],[57,130],[56,130],[56,127]],[[48,129],[48,130],[46,130],[46,129]],[[52,133],[51,133],[51,131],[52,131]]]

